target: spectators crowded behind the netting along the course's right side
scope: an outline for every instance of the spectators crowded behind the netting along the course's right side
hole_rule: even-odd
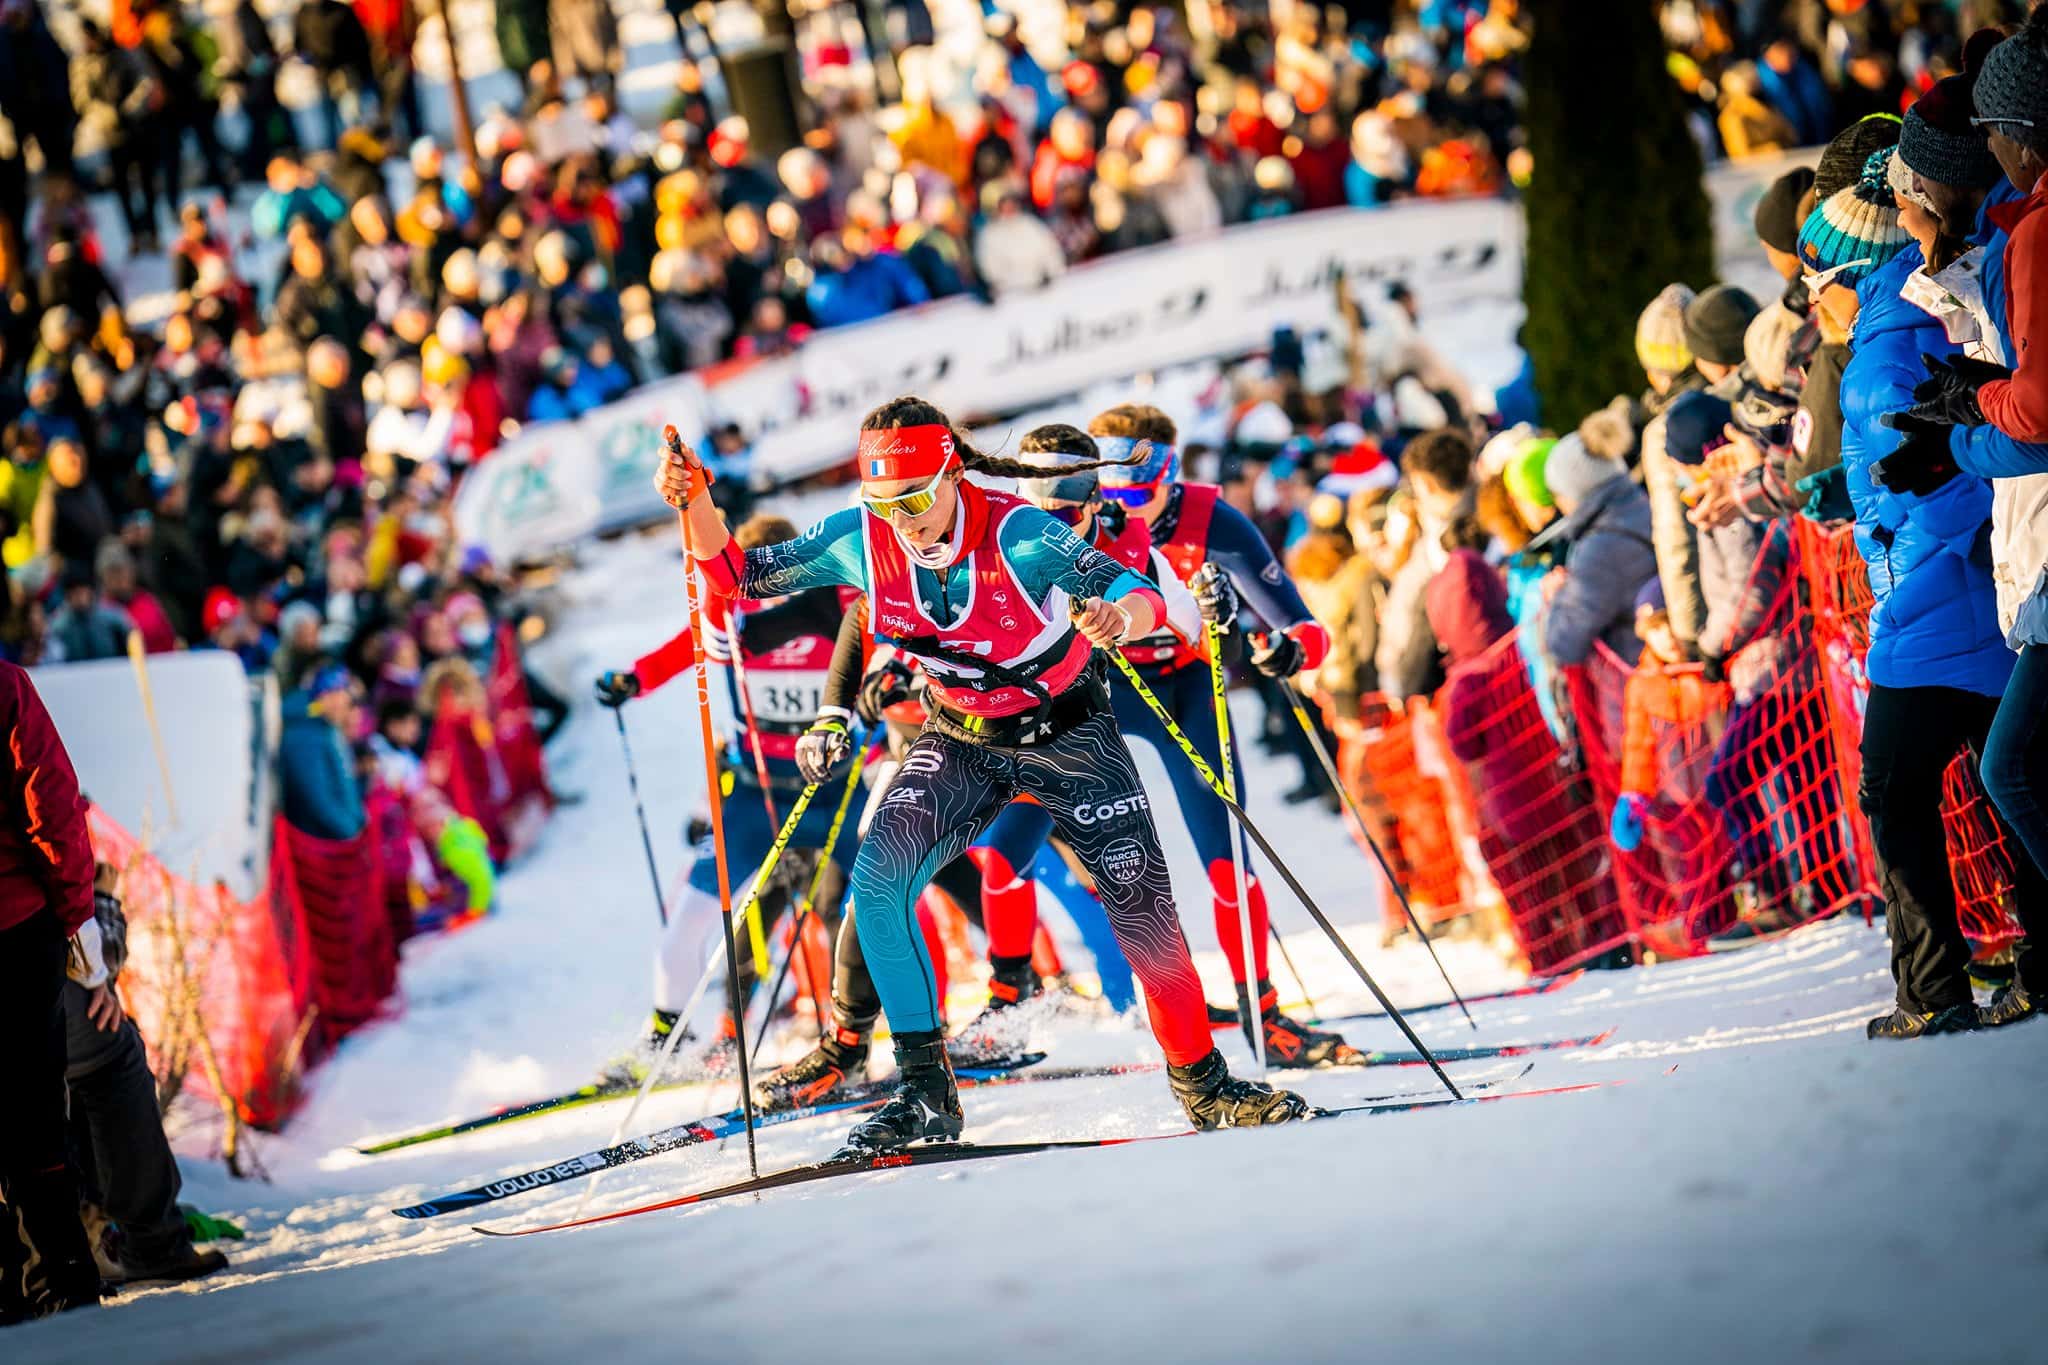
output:
[[[1878,6],[1829,12],[1864,8]],[[1634,853],[1675,819],[1673,784],[1704,788],[1737,849],[1716,876],[1737,882],[1741,907],[1714,948],[1843,909],[1817,902],[1817,866],[1841,857],[1855,800],[1898,984],[1874,1038],[2011,1023],[2048,990],[2028,948],[2048,931],[2048,375],[2028,346],[2042,317],[2048,20],[1917,51],[1954,72],[1903,117],[1880,108],[1835,129],[1819,166],[1761,194],[1757,250],[1780,297],[1673,282],[1647,301],[1640,393],[1577,422],[1540,411],[1540,393],[1503,393],[1503,409],[1532,415],[1501,428],[1462,420],[1438,379],[1421,387],[1448,422],[1432,426],[1393,415],[1409,405],[1360,413],[1356,393],[1305,393],[1276,364],[1241,391],[1214,467],[1333,632],[1317,684],[1339,739],[1370,731],[1374,708],[1436,694],[1450,749],[1481,761],[1460,735],[1485,718],[1460,714],[1456,686],[1438,690],[1518,632],[1544,720],[1575,755],[1565,673],[1595,653],[1632,667],[1608,837]],[[1430,354],[1403,370],[1442,375]],[[1364,426],[1331,422],[1339,409]],[[1864,698],[1853,769],[1817,759],[1810,722],[1782,700],[1792,669],[1817,675],[1780,612],[1800,522],[1853,532],[1858,585],[1835,567],[1831,591],[1853,598],[1868,577],[1868,653],[1831,661]],[[1706,720],[1704,784],[1659,772],[1659,726]],[[1270,733],[1284,729],[1278,710]],[[2023,931],[2011,984],[1985,1009],[1944,825],[1960,751],[2011,853],[2003,905]],[[1761,774],[1737,780],[1743,765]],[[1307,757],[1305,772],[1298,798],[1317,794]],[[1372,782],[1358,794],[1370,806]]]

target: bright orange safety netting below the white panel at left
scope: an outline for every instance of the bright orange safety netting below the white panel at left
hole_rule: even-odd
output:
[[[129,923],[121,1003],[152,1068],[209,1095],[217,1068],[246,1121],[279,1126],[313,1044],[313,966],[281,868],[272,864],[262,894],[238,900],[219,882],[174,874],[98,806],[86,819],[94,857],[119,874]]]

